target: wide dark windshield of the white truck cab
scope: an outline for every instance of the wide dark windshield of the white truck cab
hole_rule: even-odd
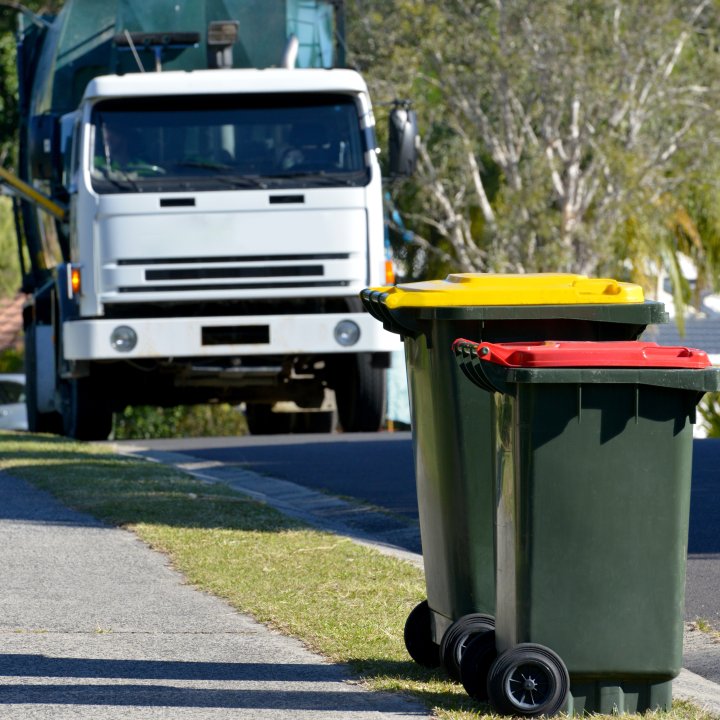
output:
[[[361,186],[374,149],[346,95],[106,100],[92,132],[101,194]]]

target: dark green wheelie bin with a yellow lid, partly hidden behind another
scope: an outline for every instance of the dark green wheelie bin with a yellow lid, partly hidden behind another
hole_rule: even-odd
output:
[[[469,638],[494,625],[494,418],[491,395],[469,391],[453,340],[631,340],[666,321],[664,306],[637,285],[570,274],[453,274],[361,297],[404,339],[427,585],[405,644],[459,679]]]

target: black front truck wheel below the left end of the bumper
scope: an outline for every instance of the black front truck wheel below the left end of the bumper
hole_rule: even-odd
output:
[[[102,390],[92,378],[65,380],[62,395],[63,432],[75,440],[107,440],[113,413]]]

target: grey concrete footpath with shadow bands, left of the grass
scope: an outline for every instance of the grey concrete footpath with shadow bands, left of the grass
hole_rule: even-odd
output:
[[[132,533],[4,473],[0,547],[0,718],[428,717],[185,585]]]

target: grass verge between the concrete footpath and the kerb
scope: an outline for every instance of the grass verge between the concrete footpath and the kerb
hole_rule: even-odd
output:
[[[412,695],[443,720],[488,717],[460,686],[407,657],[403,626],[425,592],[417,568],[308,528],[224,485],[104,446],[0,433],[0,469],[132,530],[167,553],[190,582],[348,663],[370,688]],[[712,716],[675,702],[671,712],[645,717]]]

